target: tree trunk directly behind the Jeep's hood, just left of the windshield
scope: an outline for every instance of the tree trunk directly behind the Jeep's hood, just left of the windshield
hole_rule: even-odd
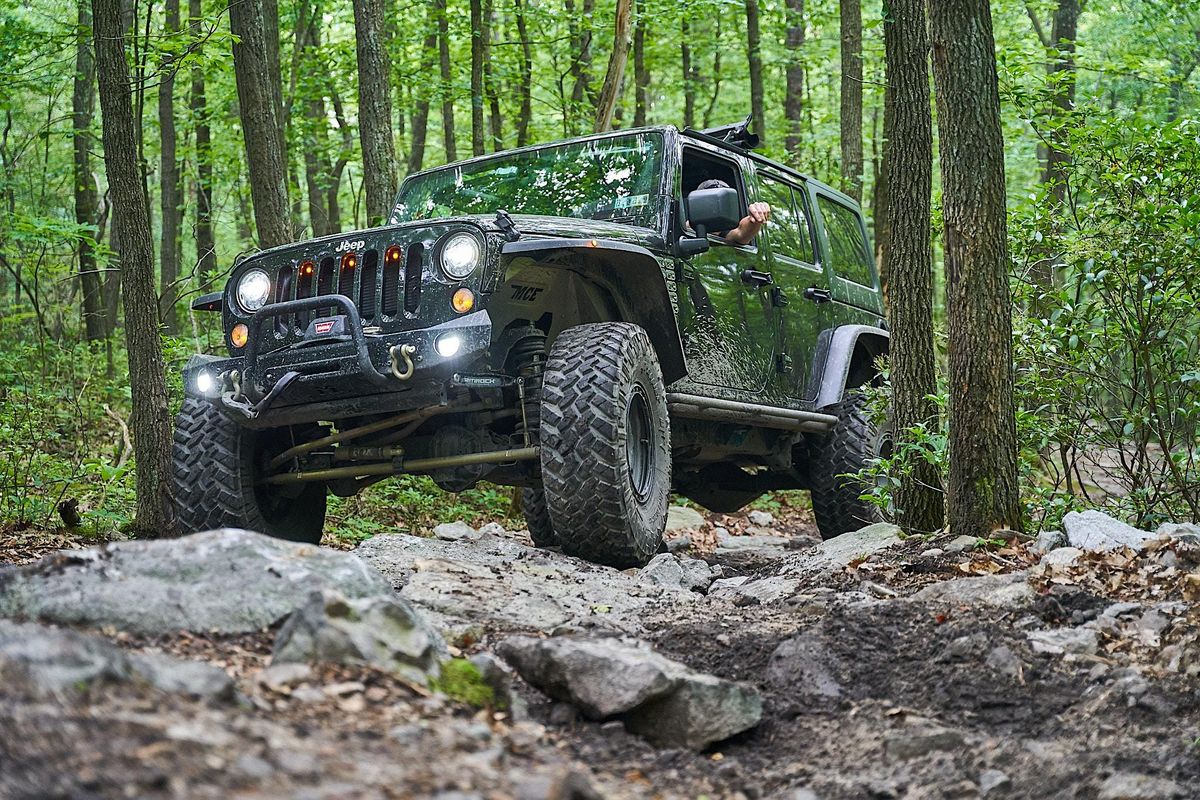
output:
[[[396,143],[391,136],[391,62],[384,38],[383,0],[354,0],[359,56],[359,138],[367,225],[388,218],[396,199]]]

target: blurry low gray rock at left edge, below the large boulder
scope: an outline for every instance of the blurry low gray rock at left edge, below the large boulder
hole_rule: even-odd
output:
[[[0,681],[38,697],[133,682],[205,699],[234,696],[229,675],[210,664],[130,654],[97,636],[7,620],[0,620]]]

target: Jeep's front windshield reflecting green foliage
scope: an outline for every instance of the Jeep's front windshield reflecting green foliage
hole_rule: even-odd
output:
[[[547,145],[451,164],[404,181],[392,223],[528,213],[658,227],[662,136],[654,132]]]

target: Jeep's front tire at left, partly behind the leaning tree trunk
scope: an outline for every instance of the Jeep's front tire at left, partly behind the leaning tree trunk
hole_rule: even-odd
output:
[[[320,542],[325,485],[256,486],[271,456],[290,446],[278,432],[251,431],[211,402],[186,397],[175,417],[172,471],[175,509],[186,534],[245,528],[294,542]],[[274,435],[272,435],[274,434]]]

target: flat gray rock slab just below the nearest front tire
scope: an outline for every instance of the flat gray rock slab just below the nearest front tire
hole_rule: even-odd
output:
[[[588,626],[634,633],[644,608],[666,591],[636,575],[508,537],[444,542],[395,534],[373,536],[355,554],[395,581],[439,630]]]

